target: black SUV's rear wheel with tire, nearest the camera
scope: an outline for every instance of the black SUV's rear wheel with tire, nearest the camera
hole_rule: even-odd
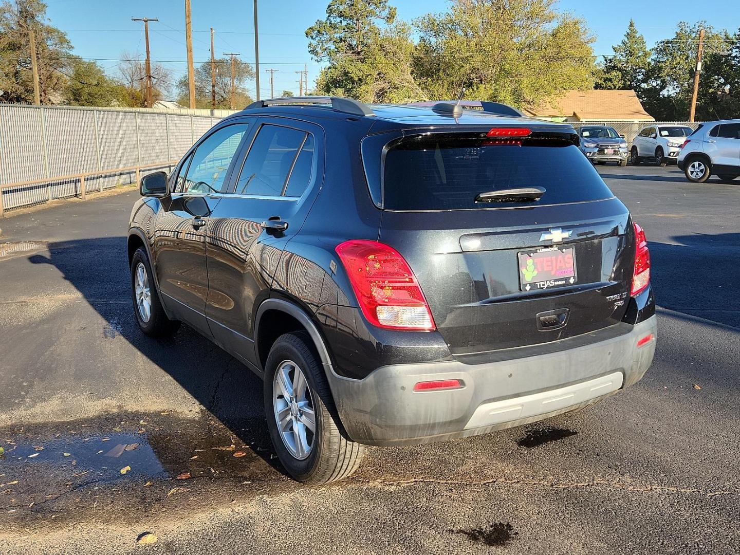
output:
[[[343,435],[332,392],[306,332],[283,334],[267,357],[267,428],[283,467],[298,482],[320,485],[348,477],[364,445]]]

